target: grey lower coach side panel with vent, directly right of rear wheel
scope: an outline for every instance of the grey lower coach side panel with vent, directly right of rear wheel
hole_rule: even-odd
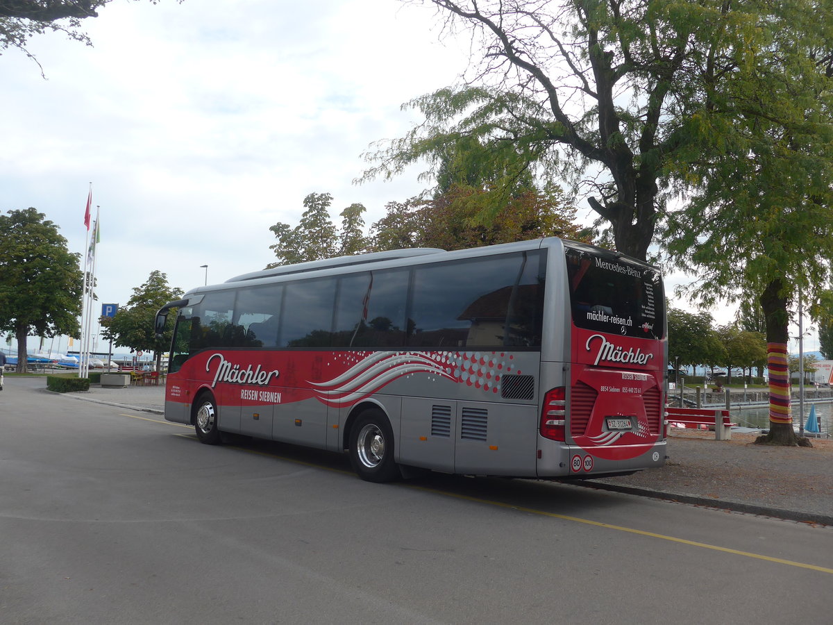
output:
[[[454,473],[456,413],[447,399],[402,398],[397,462]]]

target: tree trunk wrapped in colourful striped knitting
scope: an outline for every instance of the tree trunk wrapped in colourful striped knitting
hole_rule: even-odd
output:
[[[790,367],[787,360],[789,333],[784,281],[776,278],[769,283],[759,300],[761,308],[764,309],[766,322],[766,367],[770,374],[770,433],[757,438],[756,443],[796,446],[799,440],[792,429],[790,410]]]

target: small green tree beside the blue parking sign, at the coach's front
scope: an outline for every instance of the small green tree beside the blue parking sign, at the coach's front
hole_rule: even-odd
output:
[[[169,315],[167,331],[158,337],[155,328],[156,313],[168,302],[181,298],[181,288],[171,288],[167,275],[152,271],[147,282],[134,288],[127,306],[118,309],[114,317],[102,317],[102,336],[132,352],[153,352],[156,368],[162,364],[162,352],[171,345],[172,319]]]

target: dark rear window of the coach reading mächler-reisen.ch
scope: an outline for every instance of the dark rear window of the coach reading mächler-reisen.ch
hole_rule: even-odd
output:
[[[578,328],[635,338],[662,338],[661,275],[644,265],[566,250],[573,323]]]

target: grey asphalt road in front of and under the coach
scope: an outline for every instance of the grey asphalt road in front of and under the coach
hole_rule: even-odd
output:
[[[7,379],[3,623],[831,622],[833,528],[346,458]]]

